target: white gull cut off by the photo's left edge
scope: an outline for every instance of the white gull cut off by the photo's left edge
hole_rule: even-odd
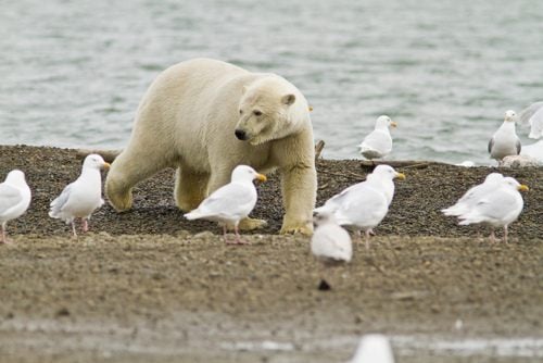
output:
[[[5,227],[8,222],[23,215],[30,205],[31,191],[25,180],[25,173],[13,170],[8,173],[5,180],[0,184],[0,223],[2,225],[2,240],[8,243]]]

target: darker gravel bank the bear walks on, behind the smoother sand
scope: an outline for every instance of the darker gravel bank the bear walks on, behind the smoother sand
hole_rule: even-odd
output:
[[[80,159],[75,149],[45,147],[0,146],[0,175],[21,168],[33,189],[33,201],[25,215],[10,222],[9,233],[65,236],[70,228],[52,220],[47,212],[51,200],[80,172]],[[372,170],[359,160],[318,160],[317,205],[342,189],[358,183]],[[380,236],[478,237],[489,234],[484,226],[458,226],[454,217],[446,217],[441,209],[456,202],[471,186],[481,183],[491,172],[517,178],[530,187],[522,195],[525,209],[510,228],[513,240],[538,239],[543,235],[540,216],[543,215],[543,167],[497,168],[462,167],[422,163],[397,167],[406,179],[395,183],[395,195],[382,223],[375,229]],[[105,174],[103,174],[105,175]],[[104,178],[104,177],[103,177]],[[280,180],[276,174],[257,186],[258,201],[252,216],[268,222],[265,228],[244,234],[277,234],[282,223]],[[134,206],[116,213],[106,202],[90,221],[93,231],[122,234],[171,234],[179,230],[220,233],[216,224],[206,221],[187,221],[174,202],[174,170],[165,170],[142,182],[134,189]],[[502,235],[497,230],[497,236]]]

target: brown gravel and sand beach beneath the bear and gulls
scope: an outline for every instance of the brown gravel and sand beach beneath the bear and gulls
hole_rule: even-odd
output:
[[[268,227],[245,235],[250,246],[225,246],[217,226],[176,210],[173,171],[142,183],[132,211],[104,205],[92,231],[74,240],[47,211],[79,173],[75,151],[0,147],[0,175],[14,167],[34,199],[9,225],[14,242],[0,246],[0,361],[344,362],[362,334],[381,331],[399,362],[467,362],[431,342],[543,339],[540,168],[501,171],[531,190],[510,243],[492,245],[487,228],[459,227],[439,212],[490,168],[399,167],[407,179],[396,183],[371,249],[355,246],[350,265],[326,273],[332,289],[319,291],[308,239],[277,235],[277,175],[258,186],[253,213]],[[369,171],[359,161],[319,161],[318,204]]]

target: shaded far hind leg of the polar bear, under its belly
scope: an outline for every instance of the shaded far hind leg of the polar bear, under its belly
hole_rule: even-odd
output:
[[[197,209],[206,197],[209,180],[209,174],[197,173],[179,166],[176,172],[174,190],[177,206],[184,212]]]

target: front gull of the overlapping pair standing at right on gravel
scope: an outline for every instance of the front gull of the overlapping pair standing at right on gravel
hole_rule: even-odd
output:
[[[485,223],[491,226],[490,240],[495,241],[494,228],[504,228],[504,241],[507,243],[507,226],[515,222],[522,212],[523,200],[519,191],[528,191],[526,185],[513,177],[505,177],[497,188],[481,196],[465,213],[458,215],[462,226]]]

